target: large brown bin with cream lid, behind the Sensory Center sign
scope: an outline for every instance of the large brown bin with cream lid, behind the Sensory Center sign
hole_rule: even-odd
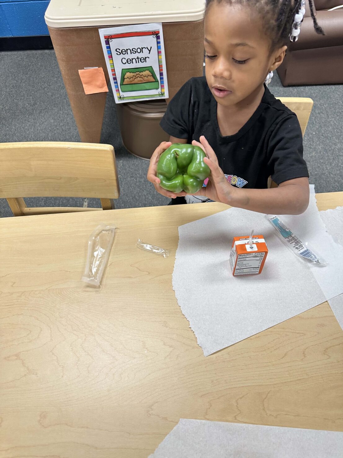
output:
[[[86,95],[78,73],[84,67],[102,67],[108,82],[99,28],[162,22],[171,99],[188,79],[203,74],[203,14],[203,0],[50,1],[45,22],[81,142],[100,142],[107,94]]]

